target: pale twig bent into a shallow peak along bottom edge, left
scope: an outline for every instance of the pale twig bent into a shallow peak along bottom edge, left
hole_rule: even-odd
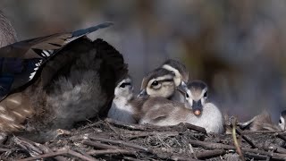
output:
[[[93,157],[83,156],[80,153],[75,152],[75,151],[73,151],[71,149],[58,150],[58,151],[55,151],[55,152],[46,153],[46,154],[43,154],[43,155],[38,155],[36,157],[24,158],[24,159],[21,159],[19,161],[29,161],[29,160],[36,160],[36,159],[40,159],[40,158],[55,157],[55,156],[62,156],[62,155],[71,155],[73,157],[79,157],[81,160],[86,160],[86,161],[97,161],[97,159],[95,159]]]

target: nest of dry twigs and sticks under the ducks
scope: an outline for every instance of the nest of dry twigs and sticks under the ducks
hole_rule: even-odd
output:
[[[282,131],[206,133],[180,123],[158,127],[105,119],[71,131],[57,130],[55,140],[39,144],[13,136],[0,148],[2,160],[285,160]]]

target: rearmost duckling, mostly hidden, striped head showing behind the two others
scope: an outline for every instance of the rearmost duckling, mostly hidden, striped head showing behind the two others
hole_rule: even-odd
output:
[[[186,83],[189,81],[189,72],[187,71],[186,66],[184,64],[181,64],[181,62],[174,59],[168,59],[164,62],[164,64],[161,65],[161,68],[174,72],[174,80],[176,82],[175,84],[181,83],[181,87],[187,89]],[[173,101],[179,101],[181,103],[184,102],[184,96],[178,90],[175,91],[171,99]]]

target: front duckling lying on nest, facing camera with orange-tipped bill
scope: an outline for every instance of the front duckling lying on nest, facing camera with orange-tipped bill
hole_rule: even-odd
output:
[[[142,106],[139,123],[159,126],[191,123],[204,127],[207,132],[222,133],[223,114],[213,103],[206,102],[206,83],[194,80],[187,86],[189,90],[185,94],[186,105],[165,97],[149,98]],[[189,109],[185,106],[189,106]]]

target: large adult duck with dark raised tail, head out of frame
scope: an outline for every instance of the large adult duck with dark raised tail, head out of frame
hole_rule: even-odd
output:
[[[37,141],[46,141],[53,138],[46,136],[50,131],[106,117],[116,82],[126,76],[128,65],[106,41],[85,36],[110,25],[105,22],[0,48],[0,132],[31,132]]]

